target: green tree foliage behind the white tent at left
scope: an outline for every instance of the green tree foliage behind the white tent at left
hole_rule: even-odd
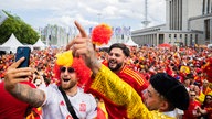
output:
[[[0,25],[0,44],[8,41],[13,33],[23,44],[34,44],[39,40],[39,34],[19,17],[13,17],[3,11],[9,18]]]

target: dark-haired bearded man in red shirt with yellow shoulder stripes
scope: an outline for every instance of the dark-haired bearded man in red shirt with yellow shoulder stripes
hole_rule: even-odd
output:
[[[108,50],[108,61],[105,64],[110,71],[116,73],[120,79],[129,84],[140,96],[148,87],[148,82],[140,73],[132,71],[126,65],[130,55],[129,48],[123,43],[115,43]]]

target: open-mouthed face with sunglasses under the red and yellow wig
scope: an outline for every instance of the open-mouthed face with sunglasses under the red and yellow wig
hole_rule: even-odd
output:
[[[77,86],[77,75],[72,67],[61,67],[61,86],[64,90],[68,90]]]

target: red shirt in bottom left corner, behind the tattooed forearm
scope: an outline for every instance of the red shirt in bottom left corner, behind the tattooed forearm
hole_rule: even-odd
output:
[[[31,87],[35,88],[33,84],[28,84]],[[23,119],[25,110],[29,107],[29,104],[20,101],[12,97],[4,89],[4,82],[0,83],[0,119]]]

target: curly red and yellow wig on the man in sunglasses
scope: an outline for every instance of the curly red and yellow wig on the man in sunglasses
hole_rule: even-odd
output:
[[[73,57],[72,51],[66,51],[60,54],[56,54],[56,61],[54,65],[54,74],[55,78],[60,80],[61,78],[61,71],[60,68],[62,66],[66,67],[73,67],[75,73],[77,74],[78,85],[84,86],[87,80],[89,79],[89,76],[92,74],[91,69],[85,65],[82,57]],[[60,85],[61,82],[57,83]]]

